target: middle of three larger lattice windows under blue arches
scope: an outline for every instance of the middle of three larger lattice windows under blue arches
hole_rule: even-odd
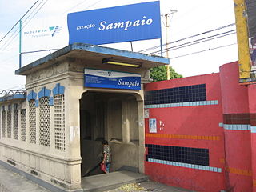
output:
[[[39,99],[39,143],[50,146],[50,105],[48,97]]]

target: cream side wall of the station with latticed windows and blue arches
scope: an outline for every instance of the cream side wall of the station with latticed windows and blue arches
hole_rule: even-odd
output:
[[[0,163],[55,186],[71,189],[66,143],[65,87],[51,83],[29,89],[26,99],[0,103]],[[72,163],[74,163],[73,161]],[[80,186],[80,162],[78,186]],[[6,165],[5,165],[6,166]],[[73,175],[73,174],[71,174]]]

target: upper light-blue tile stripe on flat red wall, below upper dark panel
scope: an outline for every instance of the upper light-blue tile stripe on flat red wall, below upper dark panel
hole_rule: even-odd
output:
[[[218,105],[218,100],[145,105],[144,108],[149,109],[149,108],[166,108],[166,107],[181,107],[181,106],[211,106],[211,105]]]

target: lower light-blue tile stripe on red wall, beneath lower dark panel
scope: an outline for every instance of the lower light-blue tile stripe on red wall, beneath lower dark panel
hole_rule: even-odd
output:
[[[216,173],[222,173],[222,168],[213,167],[213,166],[198,166],[198,165],[189,164],[189,163],[170,162],[170,161],[158,160],[154,158],[148,158],[148,162],[155,162],[155,163],[160,163],[168,166],[181,166],[181,167],[186,167],[186,168],[195,169],[195,170],[208,170]]]

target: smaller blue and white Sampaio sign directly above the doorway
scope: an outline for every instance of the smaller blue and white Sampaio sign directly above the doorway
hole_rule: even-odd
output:
[[[85,69],[84,86],[123,90],[140,90],[141,74],[123,73],[111,70]]]

